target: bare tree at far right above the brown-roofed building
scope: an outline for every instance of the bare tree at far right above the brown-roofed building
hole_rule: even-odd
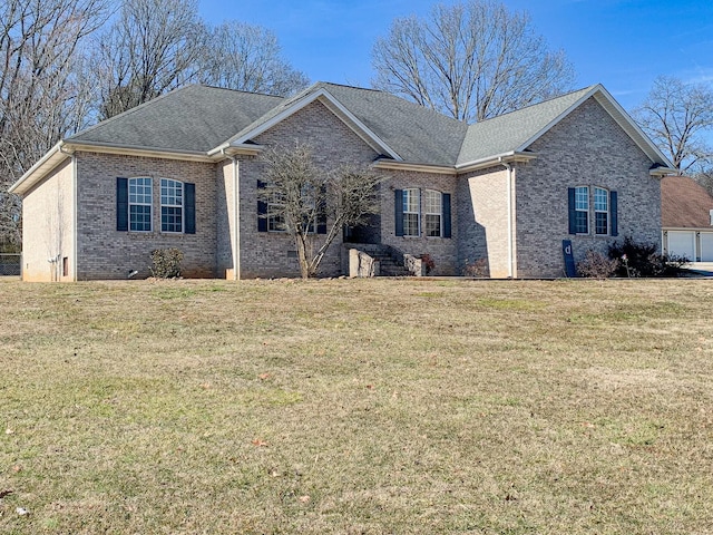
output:
[[[703,136],[713,129],[711,87],[660,76],[633,115],[681,174],[713,164],[713,149]]]

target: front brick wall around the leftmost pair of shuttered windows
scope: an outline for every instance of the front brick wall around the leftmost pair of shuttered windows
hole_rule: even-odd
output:
[[[215,164],[97,153],[77,154],[78,280],[150,274],[150,252],[178,247],[185,276],[216,275]],[[153,231],[116,230],[116,178],[153,178]],[[196,233],[160,232],[160,178],[196,185]]]

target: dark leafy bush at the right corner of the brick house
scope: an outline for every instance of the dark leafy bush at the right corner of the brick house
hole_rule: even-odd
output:
[[[609,245],[609,259],[619,260],[617,276],[680,276],[691,261],[685,256],[660,254],[655,243],[636,243],[631,236]]]

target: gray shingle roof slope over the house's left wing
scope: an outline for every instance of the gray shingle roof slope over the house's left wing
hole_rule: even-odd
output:
[[[68,140],[208,152],[282,100],[267,95],[187,86],[104,120]]]

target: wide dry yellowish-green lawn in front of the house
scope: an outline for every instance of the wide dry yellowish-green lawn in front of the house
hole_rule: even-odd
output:
[[[0,280],[0,533],[710,534],[712,296]]]

